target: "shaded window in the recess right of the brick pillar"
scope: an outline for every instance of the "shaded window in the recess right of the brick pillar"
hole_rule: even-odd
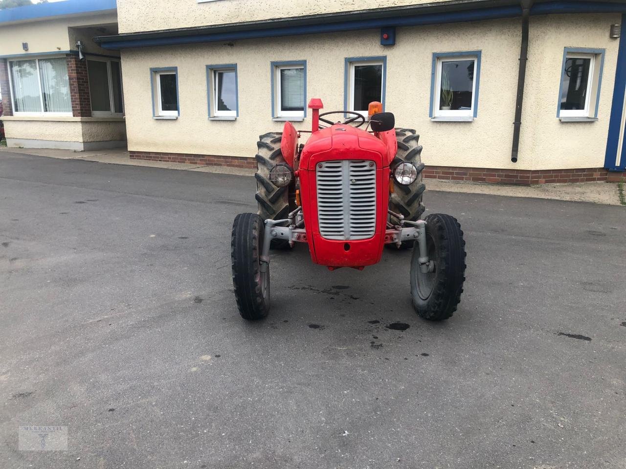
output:
[[[88,59],[87,74],[92,116],[113,116],[124,112],[121,68],[118,61]]]

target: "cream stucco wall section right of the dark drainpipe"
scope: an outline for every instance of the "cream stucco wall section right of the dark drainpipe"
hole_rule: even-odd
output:
[[[619,14],[535,16],[526,69],[520,146],[535,168],[593,168],[604,165],[613,101],[619,39],[608,38]],[[557,119],[563,48],[606,49],[597,122]],[[521,159],[521,156],[520,156]]]

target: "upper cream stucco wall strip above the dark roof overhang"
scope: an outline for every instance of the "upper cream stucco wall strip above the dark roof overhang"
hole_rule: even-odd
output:
[[[447,0],[123,0],[118,1],[118,17],[120,33],[134,33],[444,1]]]

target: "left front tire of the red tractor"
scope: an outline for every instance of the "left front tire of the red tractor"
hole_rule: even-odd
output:
[[[270,310],[270,271],[260,270],[265,228],[256,213],[240,213],[230,238],[233,287],[242,318],[265,318]]]

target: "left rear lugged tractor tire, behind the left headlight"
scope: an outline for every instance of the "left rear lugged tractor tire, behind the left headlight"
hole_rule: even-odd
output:
[[[280,151],[280,141],[282,133],[269,132],[259,136],[257,142],[258,153],[257,172],[254,178],[257,179],[257,193],[255,199],[259,205],[257,213],[264,220],[287,218],[289,214],[289,187],[277,188],[270,182],[270,169],[276,164],[285,163],[285,158]],[[272,240],[272,248],[285,248],[289,243],[284,240]]]

